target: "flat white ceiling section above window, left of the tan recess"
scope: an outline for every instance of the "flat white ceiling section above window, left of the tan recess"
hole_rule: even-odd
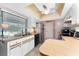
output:
[[[4,9],[7,12],[12,12],[14,14],[27,17],[31,16],[31,14],[26,11],[25,7],[30,4],[31,3],[0,3],[0,8]]]

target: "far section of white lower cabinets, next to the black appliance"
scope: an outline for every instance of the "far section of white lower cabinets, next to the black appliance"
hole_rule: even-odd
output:
[[[30,38],[29,40],[25,40],[25,43],[22,44],[23,47],[23,55],[26,55],[34,48],[34,38]]]

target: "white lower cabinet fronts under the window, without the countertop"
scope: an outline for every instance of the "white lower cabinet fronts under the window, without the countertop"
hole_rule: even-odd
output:
[[[10,43],[10,42],[9,42]],[[11,42],[12,44],[12,42]],[[8,56],[24,56],[34,48],[34,37],[22,40],[13,45],[8,44]]]

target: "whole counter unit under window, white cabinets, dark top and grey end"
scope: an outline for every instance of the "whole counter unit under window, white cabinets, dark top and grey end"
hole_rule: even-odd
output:
[[[0,39],[0,56],[24,56],[34,48],[34,35]]]

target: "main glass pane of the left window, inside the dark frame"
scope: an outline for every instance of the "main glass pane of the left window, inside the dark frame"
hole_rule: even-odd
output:
[[[3,12],[3,24],[6,28],[3,29],[4,37],[21,36],[25,34],[25,19],[19,16]]]

